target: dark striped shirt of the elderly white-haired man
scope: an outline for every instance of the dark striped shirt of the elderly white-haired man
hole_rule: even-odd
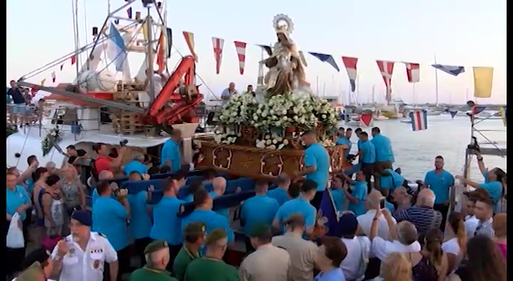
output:
[[[440,227],[442,224],[442,213],[427,206],[412,206],[393,213],[397,222],[408,221],[415,225],[417,233],[424,235],[433,227]]]

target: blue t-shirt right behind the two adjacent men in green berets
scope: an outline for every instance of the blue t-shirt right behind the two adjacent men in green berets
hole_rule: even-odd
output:
[[[186,218],[182,219],[182,231],[192,222],[202,222],[205,224],[207,234],[213,229],[224,228],[228,234],[228,242],[233,241],[234,235],[230,228],[228,219],[211,210],[194,210]]]

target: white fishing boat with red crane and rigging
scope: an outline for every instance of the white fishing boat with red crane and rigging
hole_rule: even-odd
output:
[[[196,107],[203,100],[195,84],[195,58],[183,57],[167,81],[162,81],[162,89],[155,87],[156,74],[146,73],[166,71],[170,57],[165,9],[160,3],[143,1],[146,17],[141,17],[141,12],[136,12],[134,19],[116,14],[134,3],[135,0],[127,0],[120,8],[109,12],[101,28],[93,27],[91,44],[76,46],[70,54],[17,81],[18,85],[36,91],[35,99],[52,102],[35,124],[24,126],[7,137],[8,166],[24,170],[30,155],[37,156],[41,165],[50,161],[61,165],[66,158],[63,148],[68,145],[84,149],[94,158],[93,143],[114,147],[126,144],[128,152],[124,154],[123,163],[130,161],[135,153],[159,159],[160,146],[169,139],[167,132],[171,128],[183,132],[184,160],[190,162],[192,139],[199,123]],[[155,29],[158,35],[154,36]],[[120,52],[118,56],[125,58],[120,62],[114,56],[102,67],[105,54],[111,57],[107,50],[109,44],[122,46],[120,49],[125,53]],[[33,76],[49,70],[48,66],[58,66],[70,57],[78,66],[83,53],[86,59],[82,67],[77,67],[74,81],[55,87],[30,82]],[[135,78],[130,74],[132,54],[144,57]],[[112,70],[114,65],[115,71]],[[146,79],[149,87],[144,87]],[[105,121],[105,115],[110,120]]]

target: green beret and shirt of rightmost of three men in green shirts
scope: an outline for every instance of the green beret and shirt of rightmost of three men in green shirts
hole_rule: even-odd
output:
[[[215,245],[221,239],[227,239],[226,230],[218,228],[208,234],[207,247]],[[201,257],[192,261],[185,272],[183,281],[240,281],[239,271],[215,257]]]

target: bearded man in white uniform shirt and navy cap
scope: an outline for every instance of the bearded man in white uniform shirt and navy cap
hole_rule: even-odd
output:
[[[53,249],[55,272],[60,281],[120,280],[117,253],[105,236],[91,232],[92,219],[88,210],[71,215],[71,234]],[[105,270],[105,274],[104,274]]]

